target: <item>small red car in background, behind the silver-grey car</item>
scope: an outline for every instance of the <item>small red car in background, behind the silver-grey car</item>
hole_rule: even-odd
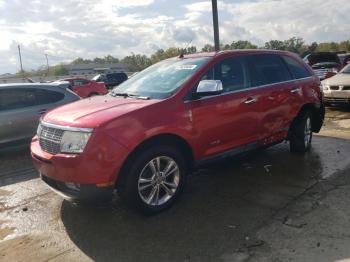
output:
[[[104,83],[99,83],[94,80],[75,77],[62,79],[61,81],[69,82],[73,92],[82,98],[105,95],[108,93]]]

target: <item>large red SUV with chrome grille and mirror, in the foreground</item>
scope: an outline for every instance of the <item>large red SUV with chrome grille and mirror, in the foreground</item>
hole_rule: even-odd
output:
[[[172,58],[111,93],[48,112],[31,154],[71,199],[118,194],[169,207],[198,165],[289,140],[306,152],[324,118],[320,81],[296,55],[223,51]]]

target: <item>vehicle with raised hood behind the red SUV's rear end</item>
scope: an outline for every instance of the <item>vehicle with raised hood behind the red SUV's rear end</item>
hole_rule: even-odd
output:
[[[312,53],[307,55],[304,61],[311,66],[320,80],[336,75],[343,68],[338,54],[334,52]]]

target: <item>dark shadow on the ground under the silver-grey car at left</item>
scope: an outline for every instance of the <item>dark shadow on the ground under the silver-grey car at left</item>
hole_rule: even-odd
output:
[[[0,150],[0,187],[37,177],[28,146]]]

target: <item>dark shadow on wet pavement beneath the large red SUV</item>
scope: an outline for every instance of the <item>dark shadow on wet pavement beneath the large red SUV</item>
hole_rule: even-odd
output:
[[[130,211],[116,198],[107,206],[64,201],[61,219],[70,239],[94,261],[219,260],[332,173],[336,157],[350,152],[344,141],[316,137],[305,155],[281,144],[212,164],[190,177],[171,209],[155,216]]]

